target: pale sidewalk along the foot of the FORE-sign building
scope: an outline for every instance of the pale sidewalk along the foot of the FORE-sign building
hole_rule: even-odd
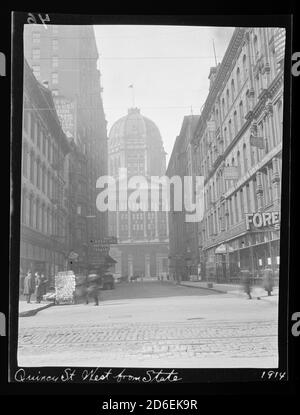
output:
[[[235,294],[239,296],[244,296],[245,292],[243,290],[242,285],[238,284],[218,284],[218,283],[211,283],[212,286],[208,285],[207,281],[181,281],[180,285],[183,285],[185,287],[194,287],[194,288],[201,288],[205,290],[211,290],[216,291],[218,293],[224,293],[224,294]],[[254,286],[251,291],[252,297],[268,297],[267,292],[264,288],[260,286]],[[272,296],[278,296],[278,287],[274,287]]]

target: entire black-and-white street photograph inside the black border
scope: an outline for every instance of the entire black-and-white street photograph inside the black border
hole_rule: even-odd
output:
[[[19,367],[278,368],[286,41],[29,16]]]

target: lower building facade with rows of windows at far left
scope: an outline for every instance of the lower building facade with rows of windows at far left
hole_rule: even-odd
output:
[[[66,156],[71,145],[51,91],[26,61],[23,94],[21,275],[31,270],[52,277],[67,266]]]

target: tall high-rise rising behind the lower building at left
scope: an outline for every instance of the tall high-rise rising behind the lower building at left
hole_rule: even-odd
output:
[[[66,193],[69,266],[85,270],[91,241],[107,236],[107,214],[96,209],[96,181],[107,174],[107,131],[93,27],[25,25],[24,54],[37,80],[52,91],[72,141]]]

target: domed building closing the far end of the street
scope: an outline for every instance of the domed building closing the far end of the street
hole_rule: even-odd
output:
[[[111,127],[108,141],[108,172],[119,177],[119,169],[127,168],[127,177],[143,176],[150,185],[151,176],[163,176],[166,153],[156,124],[143,116],[138,108]],[[116,273],[123,277],[139,275],[156,278],[168,272],[168,212],[109,212],[109,234],[118,245],[110,255],[117,261]]]

